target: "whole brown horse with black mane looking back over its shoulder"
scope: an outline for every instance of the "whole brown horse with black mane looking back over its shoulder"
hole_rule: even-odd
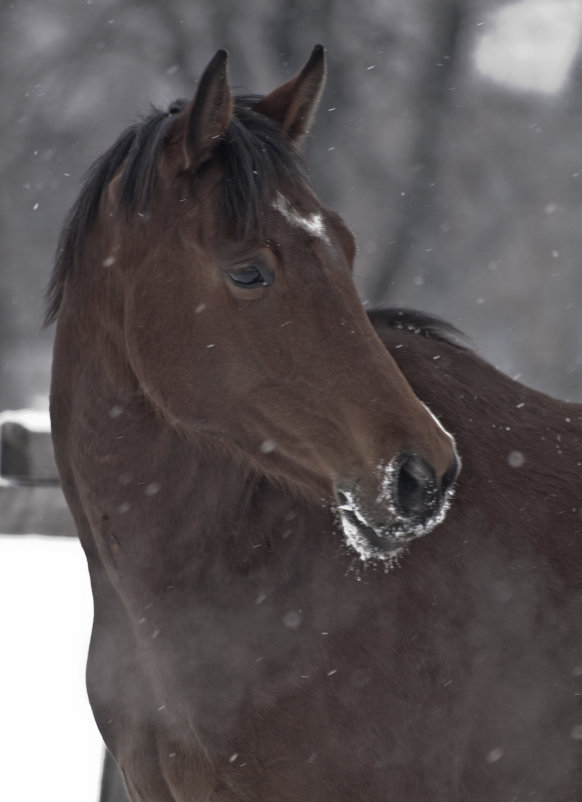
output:
[[[219,51],[65,224],[95,719],[133,802],[574,802],[582,409],[364,312],[299,156],[324,76],[233,99]]]

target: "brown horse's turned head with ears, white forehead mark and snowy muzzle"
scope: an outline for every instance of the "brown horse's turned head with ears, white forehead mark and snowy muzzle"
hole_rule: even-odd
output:
[[[97,166],[93,308],[107,302],[120,373],[170,425],[328,500],[382,558],[444,515],[455,446],[376,336],[354,239],[301,166],[323,49],[263,98],[233,99],[226,61]]]

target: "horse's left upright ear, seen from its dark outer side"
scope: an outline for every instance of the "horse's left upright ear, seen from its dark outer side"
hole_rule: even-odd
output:
[[[217,51],[184,110],[181,137],[186,169],[195,170],[210,158],[232,115],[227,59],[226,50]]]

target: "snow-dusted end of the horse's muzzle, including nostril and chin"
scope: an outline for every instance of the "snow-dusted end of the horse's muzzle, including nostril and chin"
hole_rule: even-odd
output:
[[[360,482],[339,483],[336,510],[347,544],[364,562],[391,562],[409,541],[444,520],[459,469],[455,456],[439,482],[426,460],[406,453],[378,465],[374,493]]]

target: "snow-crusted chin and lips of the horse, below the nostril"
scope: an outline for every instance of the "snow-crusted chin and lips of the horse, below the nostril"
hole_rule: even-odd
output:
[[[389,509],[382,524],[370,523],[352,494],[338,495],[336,511],[346,544],[364,563],[383,562],[391,565],[411,541],[429,534],[444,520],[453,491],[447,493],[438,510],[425,520],[410,520]]]

